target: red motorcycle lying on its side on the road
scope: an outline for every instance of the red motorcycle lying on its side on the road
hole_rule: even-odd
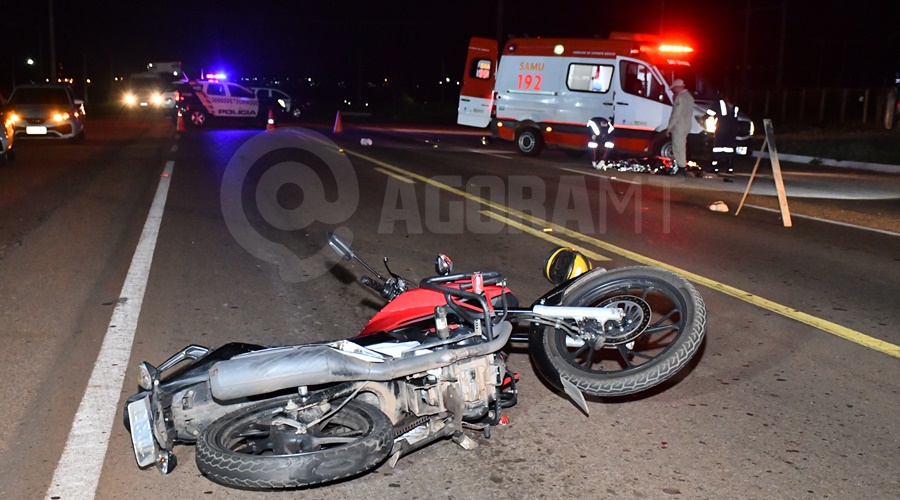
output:
[[[517,399],[510,340],[528,342],[542,376],[587,413],[585,394],[672,377],[705,334],[700,295],[659,268],[592,269],[559,248],[544,266],[556,287],[520,308],[499,272],[453,274],[439,255],[437,275],[417,285],[389,268],[381,276],[335,235],[329,244],[374,276],[360,281],[384,308],[348,340],[190,345],[158,367],[141,363],[124,412],[138,466],[167,473],[174,445],[194,443],[198,469],[227,486],[331,482],[439,439],[473,448],[467,430],[490,437]]]

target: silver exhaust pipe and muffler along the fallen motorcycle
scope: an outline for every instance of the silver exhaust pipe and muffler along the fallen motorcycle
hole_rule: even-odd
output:
[[[265,349],[214,364],[209,369],[209,384],[216,399],[227,401],[289,387],[357,380],[386,382],[497,352],[509,341],[512,325],[504,321],[494,331],[497,338],[484,344],[383,362],[364,361],[323,344]]]

